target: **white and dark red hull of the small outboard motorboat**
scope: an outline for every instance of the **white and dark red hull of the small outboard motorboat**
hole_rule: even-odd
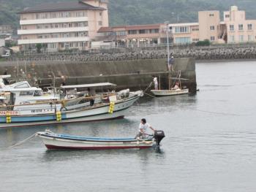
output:
[[[113,150],[146,149],[154,145],[154,139],[70,139],[54,134],[37,133],[48,150]]]

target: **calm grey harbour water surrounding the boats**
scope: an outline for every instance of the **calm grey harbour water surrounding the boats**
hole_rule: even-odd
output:
[[[140,118],[165,131],[162,149],[47,151],[45,127],[0,130],[0,191],[256,191],[256,61],[197,64],[197,96],[141,99],[124,120],[49,126],[130,137]]]

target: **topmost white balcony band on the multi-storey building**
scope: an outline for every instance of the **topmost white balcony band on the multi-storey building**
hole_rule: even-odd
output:
[[[46,24],[46,23],[70,23],[70,22],[80,22],[80,21],[88,21],[88,17],[20,20],[20,26],[33,25],[33,24]]]

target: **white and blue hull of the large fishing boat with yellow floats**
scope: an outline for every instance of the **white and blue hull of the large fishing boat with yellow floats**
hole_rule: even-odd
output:
[[[0,117],[0,128],[21,126],[43,126],[60,123],[78,123],[96,120],[112,120],[124,118],[124,112],[137,101],[140,96],[134,96],[121,102],[117,102],[113,113],[109,113],[109,104],[94,107],[89,110],[73,110],[61,112],[61,120],[56,120],[56,114],[34,116],[12,116],[12,123],[4,123],[5,116]]]

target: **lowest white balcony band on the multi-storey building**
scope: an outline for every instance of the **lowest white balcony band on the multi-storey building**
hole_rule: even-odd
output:
[[[18,45],[37,44],[37,43],[55,43],[55,42],[88,42],[89,37],[63,37],[47,39],[19,39]]]

